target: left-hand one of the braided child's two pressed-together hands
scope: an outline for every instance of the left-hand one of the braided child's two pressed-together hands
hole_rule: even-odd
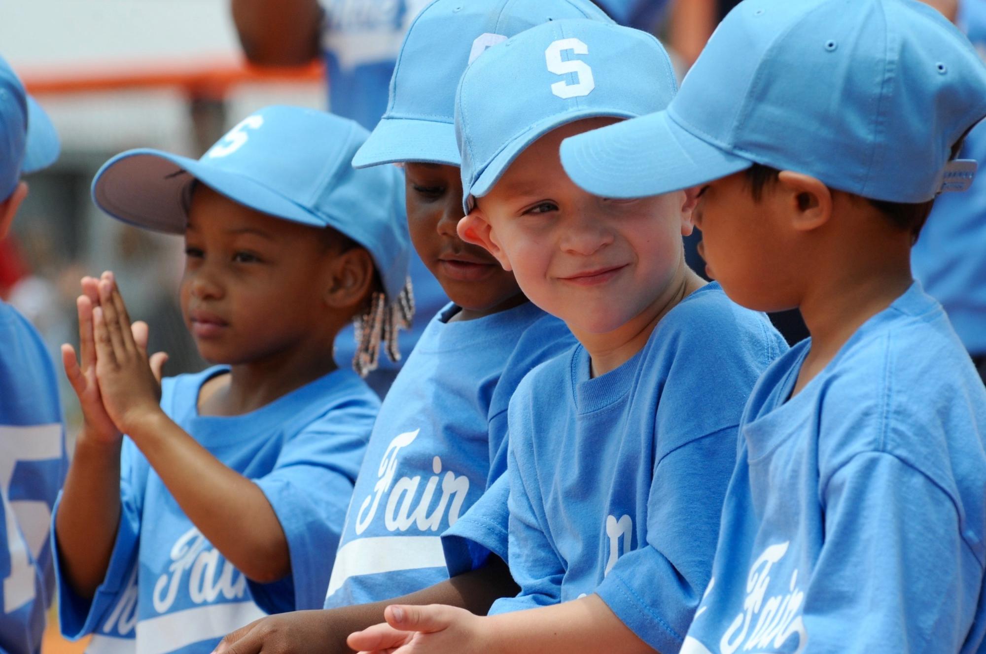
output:
[[[65,376],[72,384],[72,390],[79,397],[82,415],[85,422],[83,432],[99,442],[114,443],[120,437],[120,431],[106,414],[100,386],[96,379],[96,342],[93,337],[93,307],[99,304],[98,280],[92,277],[82,278],[82,293],[75,300],[79,312],[79,359],[76,359],[75,348],[62,345],[62,364],[65,366]],[[147,345],[146,333],[143,330],[144,345]]]

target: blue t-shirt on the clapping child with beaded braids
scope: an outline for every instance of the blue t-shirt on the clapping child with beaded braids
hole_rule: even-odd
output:
[[[246,415],[199,416],[202,384],[226,369],[165,379],[161,406],[263,490],[287,537],[291,574],[269,584],[247,580],[205,540],[127,438],[122,515],[103,584],[86,601],[58,574],[62,633],[95,633],[91,651],[209,652],[267,613],[321,606],[379,400],[354,372],[336,370]]]

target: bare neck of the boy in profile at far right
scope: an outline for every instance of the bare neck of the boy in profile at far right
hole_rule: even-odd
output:
[[[852,249],[864,254],[855,260],[842,257],[835,265],[814,269],[828,274],[815,278],[799,304],[811,349],[792,395],[801,392],[867,320],[913,284],[909,239],[908,235],[906,241],[884,241],[873,248],[856,246]]]

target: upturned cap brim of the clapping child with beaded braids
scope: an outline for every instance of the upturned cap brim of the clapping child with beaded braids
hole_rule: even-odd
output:
[[[131,150],[106,162],[93,179],[93,200],[124,223],[184,233],[192,179],[261,213],[326,226],[305,208],[245,175],[157,150]]]

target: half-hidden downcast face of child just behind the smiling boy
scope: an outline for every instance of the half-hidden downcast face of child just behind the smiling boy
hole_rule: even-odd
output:
[[[407,224],[414,249],[446,294],[463,309],[485,311],[521,294],[514,275],[489,252],[458,237],[462,218],[459,169],[405,163]]]

